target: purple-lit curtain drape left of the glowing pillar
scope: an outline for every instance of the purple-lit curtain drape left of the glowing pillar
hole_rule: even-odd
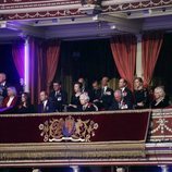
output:
[[[12,57],[20,78],[24,79],[24,42],[12,45]]]

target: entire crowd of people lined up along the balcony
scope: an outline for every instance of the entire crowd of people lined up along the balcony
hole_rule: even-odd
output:
[[[113,90],[108,86],[109,78],[102,77],[100,83],[94,81],[88,89],[83,77],[73,85],[73,94],[70,103],[67,93],[62,89],[61,82],[53,82],[53,90],[48,95],[40,91],[40,103],[30,102],[28,93],[17,95],[16,88],[7,83],[4,73],[0,73],[0,113],[49,113],[49,112],[83,112],[107,111],[125,109],[167,108],[169,98],[163,86],[153,90],[144,87],[140,77],[134,79],[132,91],[127,87],[127,81],[119,79],[119,88]]]

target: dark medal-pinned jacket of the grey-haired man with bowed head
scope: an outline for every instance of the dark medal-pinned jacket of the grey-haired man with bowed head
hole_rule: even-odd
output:
[[[123,99],[121,102],[118,102],[114,100],[109,108],[109,110],[124,110],[124,109],[133,109],[132,101],[126,101],[125,99]]]

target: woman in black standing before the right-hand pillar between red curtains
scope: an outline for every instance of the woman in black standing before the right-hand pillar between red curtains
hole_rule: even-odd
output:
[[[140,77],[134,79],[134,108],[149,108],[149,95],[147,88],[144,88],[144,82]]]

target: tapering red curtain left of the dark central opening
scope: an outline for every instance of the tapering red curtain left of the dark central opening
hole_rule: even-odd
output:
[[[60,56],[60,42],[52,40],[47,45],[46,64],[47,64],[47,91],[50,91],[50,85],[54,77]]]

